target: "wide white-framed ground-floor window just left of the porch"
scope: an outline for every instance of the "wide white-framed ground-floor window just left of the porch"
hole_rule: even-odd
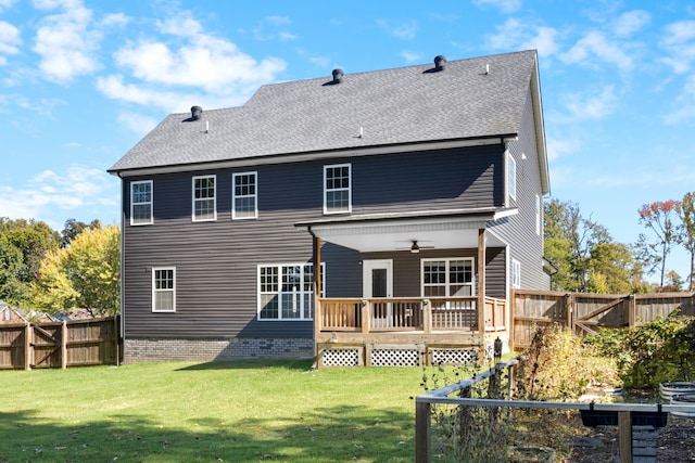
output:
[[[325,273],[321,263],[321,294]],[[312,320],[314,265],[258,266],[258,320]]]

